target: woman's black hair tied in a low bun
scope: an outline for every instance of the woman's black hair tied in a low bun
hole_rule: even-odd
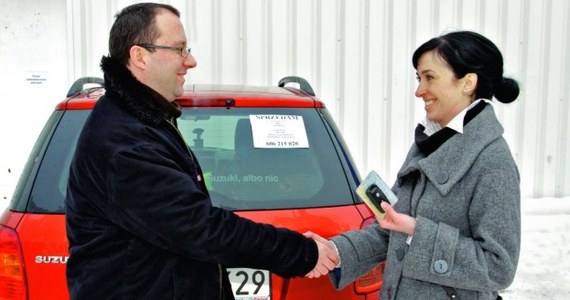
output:
[[[493,95],[503,103],[515,101],[519,85],[503,76],[503,56],[486,37],[471,31],[455,31],[432,38],[421,45],[412,57],[414,68],[418,60],[428,51],[434,51],[455,73],[463,78],[467,73],[477,74],[476,98],[491,99]]]

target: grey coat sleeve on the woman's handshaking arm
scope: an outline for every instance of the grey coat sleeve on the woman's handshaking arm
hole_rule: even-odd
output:
[[[353,230],[331,238],[337,246],[341,268],[329,277],[337,289],[343,289],[386,259],[389,232],[377,221],[362,230]]]

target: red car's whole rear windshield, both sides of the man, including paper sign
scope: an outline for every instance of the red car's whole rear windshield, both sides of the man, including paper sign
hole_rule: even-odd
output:
[[[68,170],[89,111],[67,111],[49,141],[27,210],[63,213]],[[346,172],[316,109],[184,108],[178,128],[212,203],[231,210],[353,203]]]

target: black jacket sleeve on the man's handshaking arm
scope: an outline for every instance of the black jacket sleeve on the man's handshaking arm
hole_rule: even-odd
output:
[[[316,264],[313,240],[213,207],[199,186],[197,166],[184,155],[139,145],[117,152],[111,166],[110,218],[156,247],[283,277],[303,276]]]

